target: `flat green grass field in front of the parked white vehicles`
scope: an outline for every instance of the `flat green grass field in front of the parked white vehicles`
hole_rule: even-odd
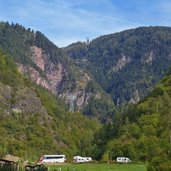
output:
[[[66,164],[48,166],[48,171],[146,171],[145,164]]]

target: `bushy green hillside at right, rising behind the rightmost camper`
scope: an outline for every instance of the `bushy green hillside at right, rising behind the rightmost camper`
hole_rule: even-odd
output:
[[[96,137],[101,154],[151,161],[171,160],[171,72],[137,105],[129,105]],[[160,159],[160,161],[162,161]]]

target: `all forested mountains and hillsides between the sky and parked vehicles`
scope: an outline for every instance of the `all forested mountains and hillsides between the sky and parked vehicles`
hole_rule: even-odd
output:
[[[40,32],[1,22],[0,157],[127,156],[150,162],[149,171],[168,166],[170,37],[171,28],[141,27],[60,49]],[[76,97],[74,111],[67,96]]]

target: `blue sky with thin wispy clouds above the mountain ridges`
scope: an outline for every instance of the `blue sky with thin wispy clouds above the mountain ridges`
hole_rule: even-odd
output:
[[[0,20],[63,47],[139,26],[171,26],[171,0],[0,0]]]

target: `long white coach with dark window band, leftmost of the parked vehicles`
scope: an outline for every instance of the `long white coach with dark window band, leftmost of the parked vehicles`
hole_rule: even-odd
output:
[[[40,158],[40,163],[64,163],[65,155],[43,155]]]

